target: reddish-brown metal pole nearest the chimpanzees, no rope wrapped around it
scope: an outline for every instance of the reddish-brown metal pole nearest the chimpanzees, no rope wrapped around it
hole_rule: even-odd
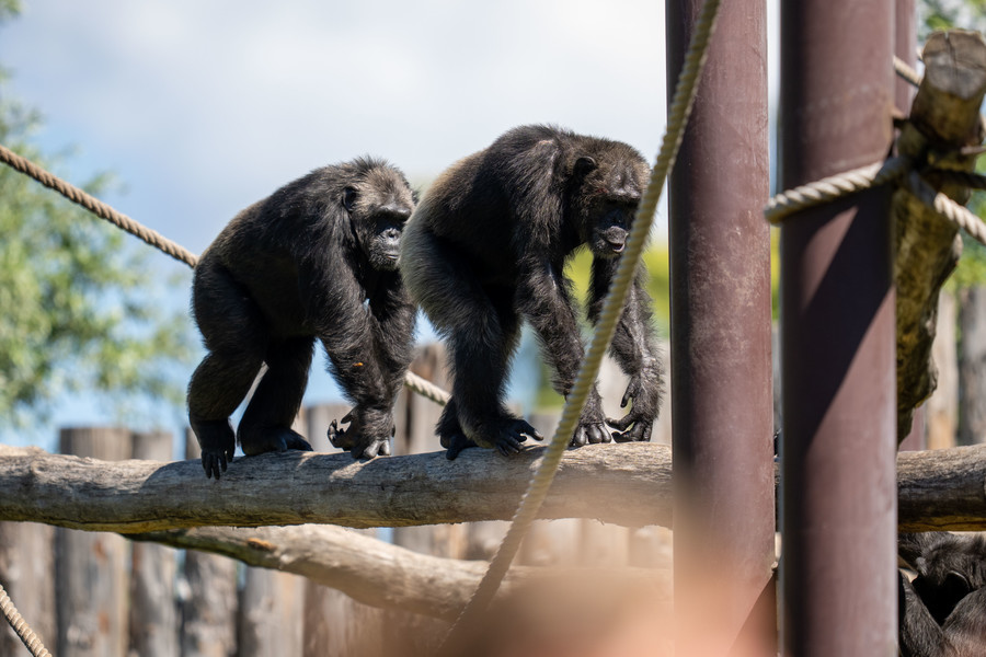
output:
[[[668,100],[701,4],[667,2]],[[775,655],[767,10],[720,12],[669,182],[677,654]]]

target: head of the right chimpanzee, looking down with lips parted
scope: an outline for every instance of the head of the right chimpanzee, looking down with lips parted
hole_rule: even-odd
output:
[[[618,141],[601,142],[575,158],[570,207],[578,237],[594,255],[616,257],[623,252],[647,171],[640,153]]]

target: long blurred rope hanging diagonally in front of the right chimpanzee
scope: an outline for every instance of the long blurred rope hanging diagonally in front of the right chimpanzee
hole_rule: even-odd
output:
[[[493,561],[490,562],[490,567],[472,598],[466,603],[459,618],[446,635],[443,646],[438,650],[439,654],[448,654],[449,649],[454,649],[455,642],[452,639],[457,633],[462,632],[462,629],[467,627],[472,619],[481,613],[489,606],[493,596],[495,596],[507,569],[509,569],[511,562],[517,554],[520,541],[530,529],[541,504],[544,502],[544,497],[548,495],[548,489],[554,480],[562,454],[572,440],[575,426],[582,415],[582,408],[598,374],[603,356],[609,348],[609,343],[612,341],[612,335],[616,331],[616,324],[622,314],[627,292],[633,280],[633,274],[640,262],[640,254],[643,251],[651,224],[654,221],[654,212],[661,198],[661,189],[664,187],[668,171],[674,166],[675,158],[678,154],[678,147],[681,145],[685,127],[688,124],[688,117],[695,103],[698,81],[706,64],[709,39],[714,30],[720,1],[706,0],[702,3],[701,13],[695,25],[695,36],[688,47],[685,66],[678,77],[674,101],[668,112],[668,127],[664,135],[661,152],[657,155],[654,169],[651,171],[647,188],[633,220],[630,238],[627,242],[627,251],[620,258],[619,267],[603,306],[603,312],[593,333],[588,353],[578,368],[578,374],[562,411],[559,426],[551,438],[551,442],[544,450],[541,463],[528,484],[527,492],[520,500],[520,506],[514,515],[503,543],[496,551]]]

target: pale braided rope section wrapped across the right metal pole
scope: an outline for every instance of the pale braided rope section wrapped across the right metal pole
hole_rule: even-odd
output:
[[[794,212],[893,182],[903,176],[909,166],[910,160],[907,158],[890,158],[885,162],[860,166],[788,189],[767,201],[764,216],[770,223],[778,224]]]

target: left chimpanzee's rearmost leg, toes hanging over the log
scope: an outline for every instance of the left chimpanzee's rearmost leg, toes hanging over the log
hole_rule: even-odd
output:
[[[196,267],[192,301],[209,354],[188,383],[188,422],[206,476],[219,479],[236,449],[229,416],[260,371],[267,328],[246,290],[207,257]]]

